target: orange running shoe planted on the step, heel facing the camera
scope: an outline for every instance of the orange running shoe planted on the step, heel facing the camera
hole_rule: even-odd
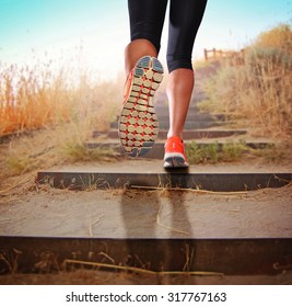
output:
[[[188,168],[187,157],[185,155],[184,141],[177,137],[172,136],[167,138],[164,154],[164,168]]]

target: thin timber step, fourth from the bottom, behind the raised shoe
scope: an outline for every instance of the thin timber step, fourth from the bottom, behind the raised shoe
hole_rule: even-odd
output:
[[[200,138],[220,138],[220,137],[230,137],[230,136],[238,136],[245,135],[246,129],[194,129],[194,130],[185,130],[184,132],[184,140],[187,139],[200,139]],[[118,130],[109,129],[106,132],[94,130],[92,133],[92,137],[107,137],[118,139]],[[166,139],[167,130],[160,129],[159,138]]]

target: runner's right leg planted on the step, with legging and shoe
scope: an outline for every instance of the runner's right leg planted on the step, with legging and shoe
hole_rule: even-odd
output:
[[[166,89],[170,129],[164,167],[188,167],[183,133],[195,84],[191,53],[207,0],[172,0],[167,46],[170,80]]]

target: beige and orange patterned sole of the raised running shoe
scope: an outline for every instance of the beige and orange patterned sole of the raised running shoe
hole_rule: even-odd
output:
[[[154,57],[142,57],[133,68],[130,93],[118,124],[121,146],[131,157],[145,155],[157,138],[159,121],[151,98],[162,79],[163,67]]]

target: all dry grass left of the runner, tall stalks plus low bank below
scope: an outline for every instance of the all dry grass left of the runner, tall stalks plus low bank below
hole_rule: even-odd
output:
[[[51,62],[32,68],[0,62],[0,192],[19,186],[23,174],[32,182],[39,168],[116,158],[108,150],[89,150],[84,141],[93,129],[109,128],[122,83],[121,76],[94,82],[90,72],[56,71]],[[10,138],[1,144],[5,135]]]

